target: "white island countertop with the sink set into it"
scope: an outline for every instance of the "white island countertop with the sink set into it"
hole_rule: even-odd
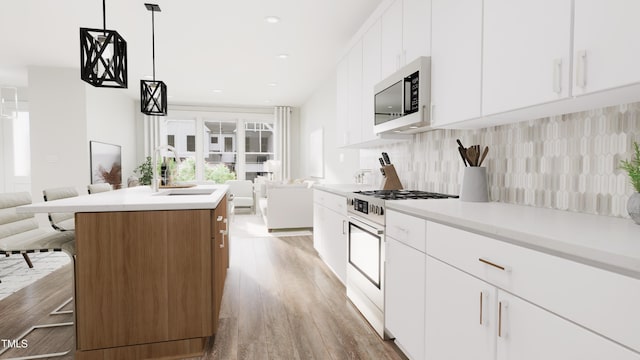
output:
[[[228,189],[227,185],[198,185],[183,189],[159,189],[158,192],[153,192],[149,186],[137,186],[20,206],[18,212],[70,213],[215,209]],[[183,194],[169,195],[180,192]],[[191,194],[184,194],[189,192]],[[198,194],[194,195],[194,193]],[[203,193],[208,194],[203,195]]]

